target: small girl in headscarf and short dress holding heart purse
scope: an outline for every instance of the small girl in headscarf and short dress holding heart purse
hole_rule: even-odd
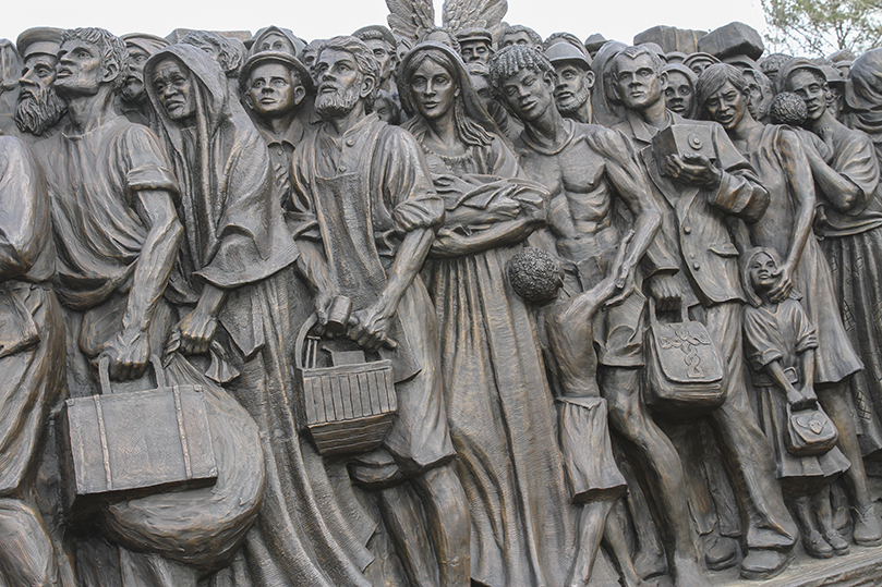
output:
[[[774,304],[781,258],[775,249],[757,247],[742,262],[741,279],[749,302],[745,310],[745,350],[759,399],[760,427],[772,444],[777,478],[793,500],[806,552],[819,559],[846,554],[848,542],[833,525],[830,484],[851,465],[837,447],[820,456],[795,456],[787,451],[787,405],[812,406],[814,394],[814,327],[796,292]]]

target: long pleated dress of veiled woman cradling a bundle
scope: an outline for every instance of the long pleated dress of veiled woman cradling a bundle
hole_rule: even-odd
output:
[[[428,151],[426,160],[433,176],[518,172],[498,138],[458,158]],[[448,209],[457,204],[467,205],[447,198]],[[433,261],[450,433],[471,509],[472,577],[492,587],[563,585],[575,552],[578,509],[534,321],[505,278],[520,248]]]

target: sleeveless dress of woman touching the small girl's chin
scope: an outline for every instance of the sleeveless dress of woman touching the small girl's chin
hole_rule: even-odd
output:
[[[753,246],[768,246],[786,257],[793,242],[796,213],[799,201],[794,197],[794,187],[788,180],[781,154],[784,133],[793,131],[777,125],[763,127],[762,136],[750,152],[746,152],[760,181],[769,192],[769,208],[765,215],[749,225]],[[839,316],[833,274],[826,258],[818,246],[814,234],[809,234],[802,255],[796,267],[794,289],[802,295],[802,305],[809,320],[818,331],[818,351],[814,355],[814,382],[836,383],[844,381],[862,368],[855,353],[842,317]]]

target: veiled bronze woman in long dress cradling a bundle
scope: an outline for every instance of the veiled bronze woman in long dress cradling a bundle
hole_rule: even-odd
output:
[[[472,578],[563,585],[570,504],[535,327],[505,264],[545,221],[545,193],[519,167],[459,54],[413,48],[399,69],[404,123],[447,216],[432,248],[448,418],[472,521]],[[487,497],[493,499],[488,500]]]

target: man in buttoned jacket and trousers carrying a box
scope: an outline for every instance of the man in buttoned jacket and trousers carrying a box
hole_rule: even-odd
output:
[[[756,221],[765,211],[769,195],[720,126],[711,126],[708,137],[715,162],[702,155],[681,159],[661,151],[656,156],[653,136],[684,123],[665,110],[666,80],[660,60],[645,49],[629,48],[608,66],[615,91],[627,109],[626,121],[617,127],[641,152],[653,194],[664,210],[656,242],[665,243],[676,266],[674,274],[660,272],[650,280],[650,292],[660,307],[674,304],[694,308],[699,315],[703,311],[709,332],[727,359],[727,398],[711,416],[723,456],[729,461],[727,470],[737,479],[733,485],[739,509],[758,514],[747,521],[741,574],[746,578],[773,576],[786,566],[786,552],[796,541],[797,529],[774,480],[772,454],[744,383],[738,249],[725,220],[726,215],[735,215]],[[705,140],[699,139],[699,144]],[[681,198],[685,201],[675,207]]]

